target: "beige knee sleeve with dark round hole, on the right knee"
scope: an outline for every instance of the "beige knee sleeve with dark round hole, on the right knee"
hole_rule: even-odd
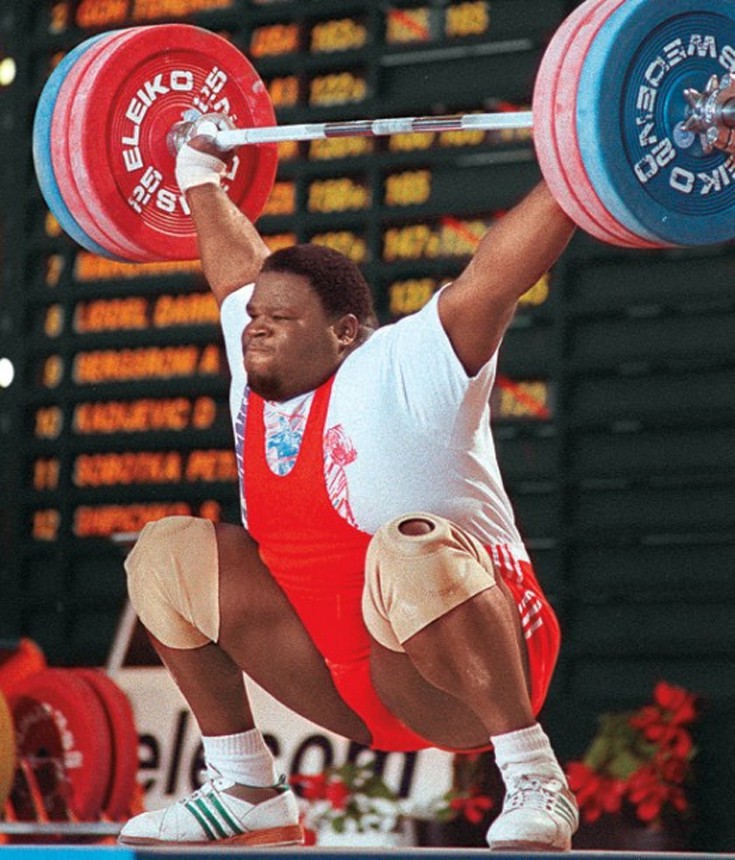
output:
[[[400,525],[425,520],[424,535]],[[482,544],[449,520],[412,513],[373,536],[365,563],[362,611],[375,639],[392,651],[432,621],[495,585],[492,561]]]

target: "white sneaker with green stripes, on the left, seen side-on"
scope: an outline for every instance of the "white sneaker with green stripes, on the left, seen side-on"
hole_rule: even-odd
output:
[[[123,845],[301,845],[299,809],[285,777],[276,797],[248,803],[227,793],[235,785],[216,777],[165,809],[136,815],[120,831]]]

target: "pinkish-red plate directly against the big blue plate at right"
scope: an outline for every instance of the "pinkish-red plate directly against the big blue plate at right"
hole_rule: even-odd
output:
[[[587,212],[592,222],[606,228],[617,237],[615,244],[633,248],[658,248],[649,237],[643,237],[622,224],[602,203],[589,179],[580,153],[580,129],[577,124],[577,94],[579,76],[582,72],[587,52],[602,25],[610,15],[622,5],[624,0],[607,0],[592,11],[585,25],[575,33],[560,69],[559,84],[556,92],[556,111],[554,114],[557,148],[566,153],[562,169],[573,189],[580,206]]]

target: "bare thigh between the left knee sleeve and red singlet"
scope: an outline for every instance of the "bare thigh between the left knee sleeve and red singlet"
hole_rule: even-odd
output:
[[[216,528],[218,644],[274,698],[317,725],[369,744],[364,723],[338,695],[323,657],[240,526]]]

